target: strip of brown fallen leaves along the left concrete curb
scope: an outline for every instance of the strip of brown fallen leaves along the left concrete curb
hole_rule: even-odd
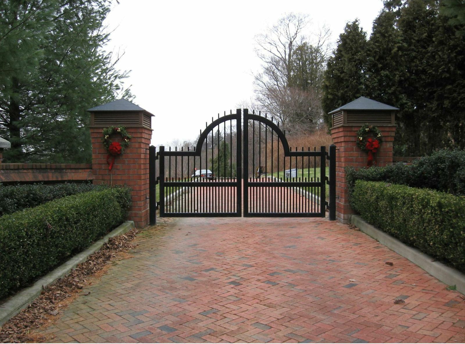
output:
[[[93,253],[86,262],[79,264],[66,277],[42,290],[32,304],[11,318],[0,328],[0,343],[44,342],[50,337],[34,334],[32,330],[53,323],[66,307],[78,296],[84,285],[99,277],[112,260],[122,258],[137,244],[132,243],[138,229],[110,238],[100,250]],[[95,279],[95,278],[94,278]],[[85,294],[86,295],[86,294]]]

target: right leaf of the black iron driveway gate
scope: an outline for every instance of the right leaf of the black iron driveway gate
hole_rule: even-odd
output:
[[[292,151],[272,118],[247,109],[244,123],[244,216],[325,217],[326,148]]]

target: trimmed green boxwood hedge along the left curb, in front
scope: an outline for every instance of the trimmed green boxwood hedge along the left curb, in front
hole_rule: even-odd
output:
[[[107,188],[0,217],[0,298],[120,225],[130,205],[129,188]]]

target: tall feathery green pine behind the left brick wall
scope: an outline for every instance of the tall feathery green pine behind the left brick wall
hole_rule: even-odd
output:
[[[102,47],[106,0],[0,5],[0,136],[5,162],[90,162],[87,108],[115,99],[126,73]]]

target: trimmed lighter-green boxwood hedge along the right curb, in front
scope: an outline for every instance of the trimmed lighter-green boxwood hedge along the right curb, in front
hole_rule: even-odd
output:
[[[358,180],[350,197],[365,221],[465,272],[465,197]]]

